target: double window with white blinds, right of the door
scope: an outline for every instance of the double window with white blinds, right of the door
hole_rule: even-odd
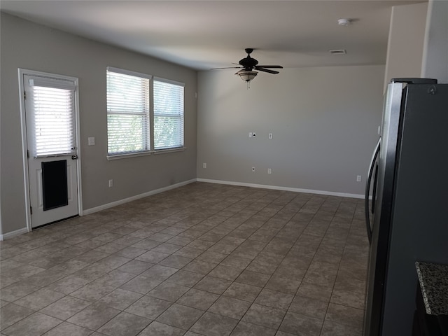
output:
[[[183,84],[162,78],[151,83],[151,79],[144,73],[108,66],[109,157],[183,147]]]

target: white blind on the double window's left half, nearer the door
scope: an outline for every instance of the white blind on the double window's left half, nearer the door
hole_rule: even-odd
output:
[[[149,151],[149,78],[118,71],[107,69],[108,153]]]

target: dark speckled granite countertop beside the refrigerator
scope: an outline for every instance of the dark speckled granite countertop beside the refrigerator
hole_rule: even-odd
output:
[[[448,265],[415,262],[426,314],[448,314]]]

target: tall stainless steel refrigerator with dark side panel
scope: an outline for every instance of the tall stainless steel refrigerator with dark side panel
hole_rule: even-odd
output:
[[[388,84],[365,214],[364,335],[411,335],[414,262],[448,263],[448,84],[426,78]]]

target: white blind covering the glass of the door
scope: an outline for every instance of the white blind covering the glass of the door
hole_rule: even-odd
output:
[[[34,108],[35,158],[75,153],[75,85],[59,84],[60,80],[59,83],[51,79],[29,80]]]

